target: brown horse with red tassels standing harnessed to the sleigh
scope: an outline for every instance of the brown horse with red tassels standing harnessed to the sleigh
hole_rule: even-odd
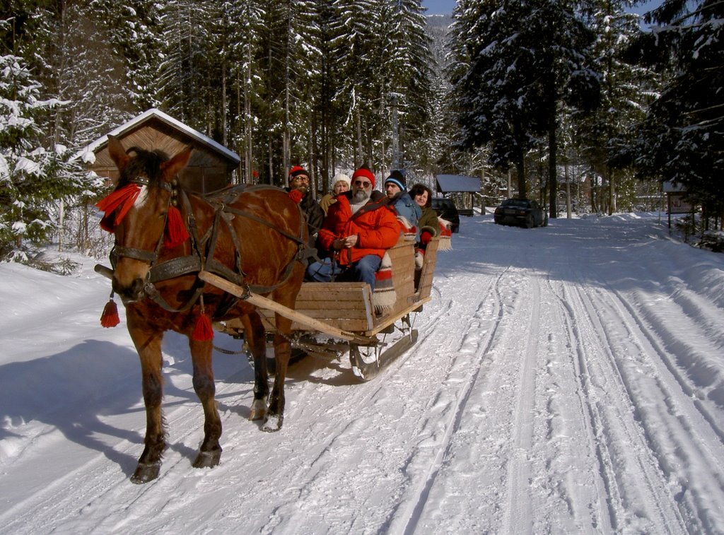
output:
[[[204,413],[204,437],[193,466],[219,464],[222,424],[214,400],[210,320],[240,317],[254,359],[254,400],[250,419],[264,418],[264,431],[277,431],[284,414],[284,381],[290,356],[291,321],[277,315],[277,360],[269,395],[266,334],[256,308],[233,298],[197,274],[216,272],[239,285],[293,308],[302,283],[306,224],[298,205],[278,188],[231,188],[213,198],[185,192],[176,175],[191,153],[168,159],[162,153],[124,151],[109,136],[119,169],[116,188],[99,203],[101,226],[114,232],[113,290],[126,307],[128,332],[140,357],[146,403],[146,447],[131,481],[159,475],[166,433],[161,415],[161,340],[172,330],[189,338],[193,387]],[[267,397],[269,396],[269,405]]]

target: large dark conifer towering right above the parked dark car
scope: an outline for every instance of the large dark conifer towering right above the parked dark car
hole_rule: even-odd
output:
[[[497,167],[515,164],[526,195],[524,157],[547,143],[550,216],[557,215],[558,106],[598,102],[599,80],[586,64],[593,35],[569,0],[463,1],[458,47],[468,71],[458,74],[456,106],[463,145],[492,146]]]

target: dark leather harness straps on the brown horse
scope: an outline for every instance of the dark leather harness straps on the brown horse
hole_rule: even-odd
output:
[[[135,179],[129,180],[128,182],[130,184],[137,184],[142,186],[150,185],[149,180],[144,177],[136,177]],[[194,283],[193,295],[191,295],[189,300],[183,306],[180,306],[179,308],[174,308],[173,306],[170,306],[169,303],[167,303],[167,301],[161,296],[159,290],[156,289],[157,282],[174,279],[176,277],[182,277],[183,275],[188,275],[192,273],[198,273],[199,271],[204,270],[219,275],[219,277],[223,277],[224,279],[227,279],[235,285],[244,287],[245,295],[249,295],[249,292],[264,294],[276,290],[278,287],[284,285],[285,282],[287,282],[287,279],[289,279],[292,274],[292,269],[294,268],[295,262],[304,261],[306,258],[314,255],[314,251],[310,250],[306,241],[303,240],[303,232],[306,227],[306,222],[304,222],[304,219],[306,218],[304,216],[302,218],[303,224],[300,225],[300,235],[295,236],[290,234],[289,232],[286,232],[283,229],[280,229],[266,219],[256,216],[256,214],[252,214],[251,212],[242,210],[240,208],[235,208],[234,206],[230,206],[232,203],[237,201],[237,199],[243,193],[265,189],[279,190],[279,188],[275,188],[274,186],[270,185],[239,185],[201,196],[201,200],[215,208],[214,222],[213,224],[211,224],[211,227],[206,230],[201,238],[198,237],[196,219],[193,215],[193,210],[191,208],[188,194],[183,188],[179,187],[177,180],[174,179],[172,180],[172,182],[161,182],[161,184],[159,184],[159,188],[167,190],[171,193],[171,196],[169,197],[169,206],[177,206],[177,204],[182,203],[186,212],[186,222],[188,224],[192,254],[188,256],[171,258],[167,261],[161,262],[160,264],[156,264],[156,261],[159,258],[161,246],[164,243],[164,235],[161,234],[161,237],[159,237],[159,242],[156,244],[156,249],[153,250],[153,252],[116,244],[111,249],[110,259],[111,267],[112,269],[114,269],[114,271],[116,269],[117,259],[120,257],[133,258],[135,260],[140,260],[148,263],[150,265],[150,269],[148,270],[146,282],[143,285],[143,291],[146,292],[146,295],[148,295],[149,298],[153,299],[156,304],[169,312],[188,311],[202,297],[204,283],[201,282],[201,279],[198,279],[197,277]],[[237,236],[237,232],[235,232],[235,229],[231,223],[234,215],[243,216],[246,219],[251,219],[255,222],[264,224],[266,225],[266,227],[274,229],[274,231],[278,232],[280,235],[286,237],[289,240],[292,240],[292,242],[295,242],[297,244],[297,253],[295,254],[295,256],[292,256],[290,261],[285,266],[281,282],[271,286],[249,285],[245,282],[246,274],[243,271],[240,241],[239,237]],[[226,225],[226,228],[232,239],[232,243],[234,244],[235,269],[230,269],[229,267],[225,266],[214,258],[216,242],[219,238],[219,229],[222,227],[222,223]],[[164,223],[164,228],[165,225],[166,223]],[[230,300],[230,302],[224,303],[224,311],[232,308],[232,306],[234,306],[234,304],[237,303],[239,299],[244,299],[244,297],[233,298],[233,300]]]

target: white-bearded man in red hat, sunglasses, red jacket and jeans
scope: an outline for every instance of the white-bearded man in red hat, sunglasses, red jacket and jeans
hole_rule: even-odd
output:
[[[375,285],[384,252],[397,243],[400,226],[387,197],[374,190],[374,173],[365,167],[352,175],[352,190],[337,195],[329,206],[317,245],[319,262],[307,274],[318,282],[360,281]]]

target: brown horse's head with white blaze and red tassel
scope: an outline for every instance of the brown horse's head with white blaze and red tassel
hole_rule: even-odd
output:
[[[171,216],[179,216],[175,179],[188,164],[192,148],[169,159],[160,151],[136,147],[125,151],[117,138],[108,138],[119,178],[114,191],[98,203],[106,211],[101,226],[115,235],[113,290],[123,303],[133,303],[143,298],[143,287],[164,245],[164,232],[168,235]]]

